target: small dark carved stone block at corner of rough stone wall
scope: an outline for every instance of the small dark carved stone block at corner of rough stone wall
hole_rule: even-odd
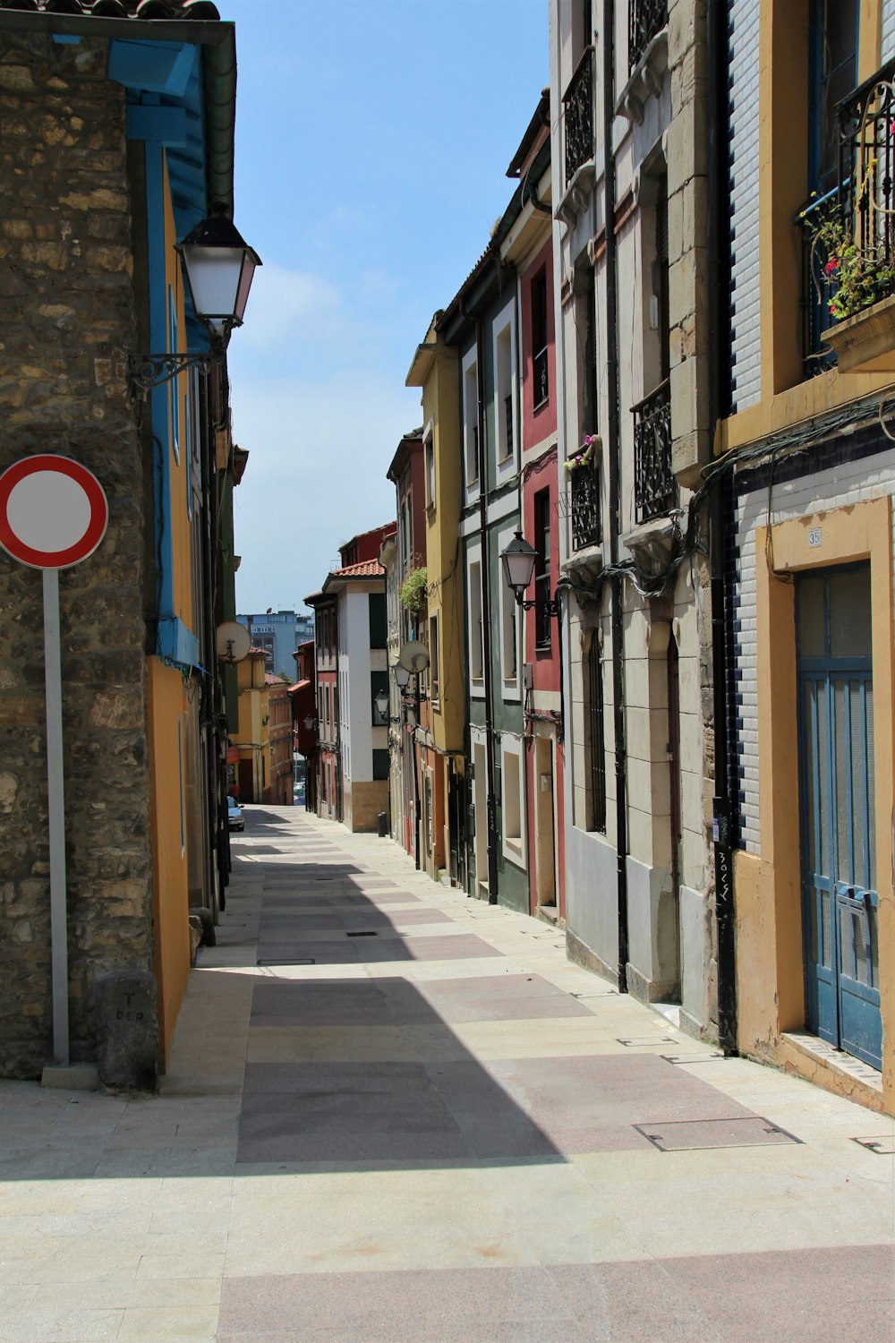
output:
[[[103,1086],[154,1091],[158,1023],[156,979],[149,971],[114,970],[94,982],[97,1064]]]

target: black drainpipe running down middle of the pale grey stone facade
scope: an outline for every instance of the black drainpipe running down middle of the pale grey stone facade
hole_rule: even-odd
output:
[[[615,0],[602,4],[602,189],[607,235],[607,385],[609,415],[609,561],[619,563],[619,259],[616,248],[616,156],[612,148],[615,122]],[[619,991],[628,991],[628,796],[624,712],[624,627],[621,576],[613,575],[612,602],[612,701],[616,739],[616,864],[619,893]]]

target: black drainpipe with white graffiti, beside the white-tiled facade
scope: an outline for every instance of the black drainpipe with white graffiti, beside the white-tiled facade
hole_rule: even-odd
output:
[[[708,348],[715,352],[710,361],[710,435],[714,441],[715,424],[727,407],[721,369],[729,367],[722,351],[726,340],[723,295],[729,293],[727,277],[722,274],[721,220],[727,218],[722,201],[723,164],[726,163],[726,19],[722,26],[719,5],[707,5],[706,43],[707,105],[708,105]],[[727,744],[727,611],[725,603],[725,537],[733,525],[730,485],[727,473],[710,492],[708,555],[711,568],[711,678],[713,716],[715,723],[715,796],[714,864],[715,864],[715,931],[718,945],[718,1042],[725,1054],[737,1053],[737,948],[735,908],[733,882],[730,761]]]

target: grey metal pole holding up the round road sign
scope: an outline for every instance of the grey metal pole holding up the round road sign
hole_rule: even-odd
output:
[[[50,811],[50,932],[52,941],[52,1053],[68,1062],[68,919],[66,794],[62,763],[59,569],[43,569],[43,645],[47,688],[47,804]]]

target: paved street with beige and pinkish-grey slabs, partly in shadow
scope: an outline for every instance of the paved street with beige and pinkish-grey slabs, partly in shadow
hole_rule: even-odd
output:
[[[891,1340],[894,1124],[247,808],[161,1096],[0,1084],[0,1339]]]

